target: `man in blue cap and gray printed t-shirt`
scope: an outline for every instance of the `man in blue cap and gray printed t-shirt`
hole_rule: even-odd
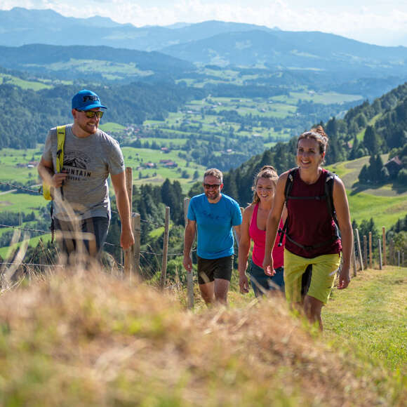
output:
[[[51,128],[38,166],[41,178],[53,188],[53,224],[62,232],[59,243],[68,257],[82,246],[92,257],[102,251],[110,220],[109,174],[121,219],[120,244],[127,249],[134,243],[123,154],[119,143],[98,128],[105,109],[96,93],[86,89],[76,93],[74,123],[62,126],[62,148],[57,147],[57,128]],[[57,171],[61,151],[62,171]]]

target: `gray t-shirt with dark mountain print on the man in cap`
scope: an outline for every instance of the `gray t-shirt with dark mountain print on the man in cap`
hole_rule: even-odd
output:
[[[46,138],[43,159],[56,168],[57,131],[51,128]],[[68,177],[62,186],[63,203],[68,203],[80,219],[106,216],[110,218],[109,173],[124,171],[124,159],[119,142],[98,129],[95,134],[78,138],[72,133],[72,124],[65,129],[64,165]],[[69,220],[64,204],[55,200],[54,215]]]

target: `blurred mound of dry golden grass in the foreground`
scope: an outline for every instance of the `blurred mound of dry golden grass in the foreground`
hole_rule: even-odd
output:
[[[143,284],[65,272],[0,296],[1,406],[402,406],[279,299],[187,312]]]

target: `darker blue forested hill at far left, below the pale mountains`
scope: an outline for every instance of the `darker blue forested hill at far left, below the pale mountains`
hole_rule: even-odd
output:
[[[95,62],[96,61],[96,62]],[[0,46],[0,66],[36,74],[96,80],[105,74],[114,78],[137,78],[161,74],[178,76],[194,69],[190,62],[158,52],[135,51],[107,46],[50,46],[32,44]]]

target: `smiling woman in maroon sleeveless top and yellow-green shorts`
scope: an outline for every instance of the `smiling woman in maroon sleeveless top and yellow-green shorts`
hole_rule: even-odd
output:
[[[337,176],[331,177],[333,180],[331,196],[326,196],[326,180],[329,179],[329,173],[321,168],[321,164],[327,145],[328,136],[322,126],[312,128],[298,138],[296,156],[298,168],[281,174],[277,182],[274,206],[267,219],[263,261],[263,269],[271,275],[274,268],[271,248],[274,246],[281,213],[286,204],[288,210],[284,250],[286,299],[294,307],[303,309],[309,321],[312,323],[318,321],[321,331],[323,329],[321,310],[331,294],[335,274],[340,267],[341,251],[342,268],[338,288],[347,288],[349,285],[353,243],[345,186]],[[293,178],[290,178],[291,175]],[[286,185],[291,185],[288,196]],[[333,206],[330,197],[333,198]],[[338,220],[342,242],[335,218]],[[311,281],[308,292],[302,300],[302,274],[308,265],[312,265]]]

